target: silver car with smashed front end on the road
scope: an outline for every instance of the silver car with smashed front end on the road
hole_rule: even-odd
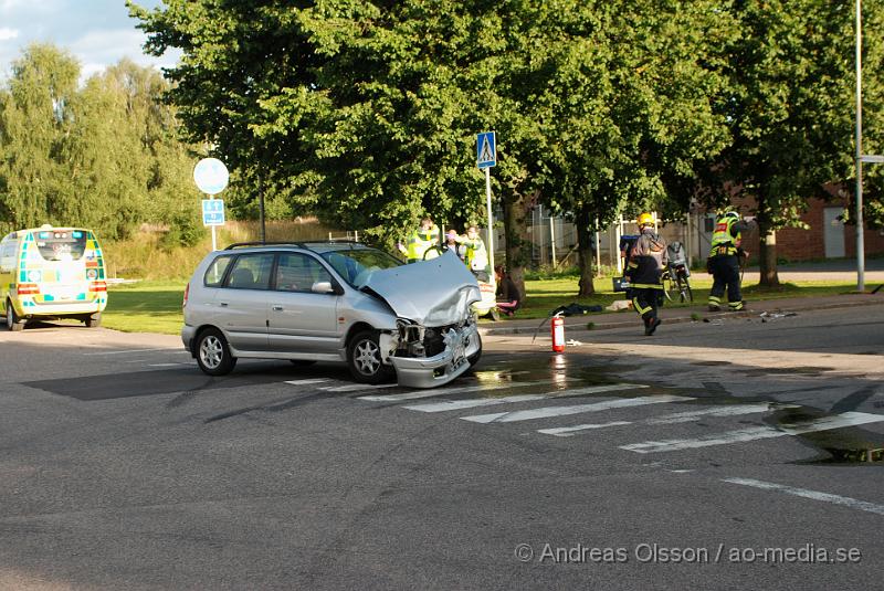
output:
[[[359,243],[240,243],[197,266],[181,340],[210,376],[239,358],[344,361],[359,382],[432,388],[478,361],[480,298],[452,252],[404,265]]]

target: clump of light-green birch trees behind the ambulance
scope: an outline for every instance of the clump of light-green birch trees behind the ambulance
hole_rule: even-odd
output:
[[[162,105],[162,76],[124,60],[78,84],[80,65],[29,46],[0,89],[0,230],[52,223],[123,238],[144,222],[199,223],[194,154]]]

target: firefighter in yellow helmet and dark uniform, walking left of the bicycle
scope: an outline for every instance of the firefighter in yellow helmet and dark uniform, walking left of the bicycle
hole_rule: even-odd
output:
[[[661,275],[666,266],[666,241],[654,231],[654,218],[650,213],[639,215],[641,234],[630,250],[623,278],[630,283],[630,295],[635,312],[644,320],[644,334],[654,334],[660,326],[657,308],[663,302]]]

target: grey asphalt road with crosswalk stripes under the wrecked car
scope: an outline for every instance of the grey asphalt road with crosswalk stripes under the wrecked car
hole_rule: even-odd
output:
[[[884,308],[568,337],[412,391],[0,333],[0,589],[884,588]]]

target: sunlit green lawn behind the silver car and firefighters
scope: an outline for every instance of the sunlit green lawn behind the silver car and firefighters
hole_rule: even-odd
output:
[[[126,333],[160,333],[177,335],[183,321],[181,300],[187,281],[143,281],[135,284],[115,285],[109,288],[107,309],[102,324],[107,328]],[[599,277],[593,282],[596,295],[575,297],[577,277],[526,281],[528,297],[515,318],[546,318],[550,310],[562,304],[578,303],[585,306],[610,305],[622,299],[622,293],[611,291],[611,278]],[[712,287],[711,281],[691,282],[694,305],[704,305]],[[855,284],[850,282],[798,282],[782,284],[778,289],[762,289],[757,283],[744,286],[744,297],[749,302],[783,297],[813,297],[851,293]],[[685,304],[666,302],[665,307],[685,307]],[[631,310],[627,310],[634,314]],[[503,321],[508,318],[504,317]]]

